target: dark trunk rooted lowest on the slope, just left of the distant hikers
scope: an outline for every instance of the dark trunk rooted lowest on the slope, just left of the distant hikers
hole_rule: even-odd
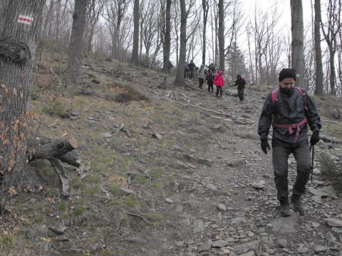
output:
[[[180,58],[177,67],[175,85],[184,85],[184,62],[187,54],[187,10],[185,1],[180,0]]]

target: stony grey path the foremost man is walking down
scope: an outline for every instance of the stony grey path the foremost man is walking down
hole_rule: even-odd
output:
[[[206,143],[199,156],[203,161],[192,174],[181,175],[182,188],[172,195],[175,203],[168,207],[179,237],[169,240],[162,253],[341,255],[342,230],[331,230],[324,220],[341,217],[341,198],[318,195],[313,188],[325,184],[316,176],[308,185],[311,193],[304,196],[306,215],[293,211],[289,218],[278,215],[271,154],[259,149],[257,136],[263,100],[254,92],[247,93],[247,100],[241,103],[229,95],[221,99],[204,91],[184,92],[193,105],[225,112],[233,120],[247,118],[254,124],[227,125],[217,120],[216,131],[198,135]],[[295,162],[292,157],[289,161],[291,186]],[[312,193],[318,195],[315,201]],[[159,253],[152,250],[150,255],[164,255]]]

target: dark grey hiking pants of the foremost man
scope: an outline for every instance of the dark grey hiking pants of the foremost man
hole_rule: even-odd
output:
[[[297,177],[292,193],[299,196],[304,194],[305,185],[309,180],[310,152],[308,144],[294,147],[273,147],[274,182],[276,183],[279,200],[289,196],[289,181],[287,176],[289,173],[288,159],[291,153],[294,154],[297,163]]]

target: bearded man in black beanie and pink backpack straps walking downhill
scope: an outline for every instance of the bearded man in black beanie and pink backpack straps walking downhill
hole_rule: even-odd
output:
[[[261,149],[267,154],[269,143],[267,137],[269,127],[273,124],[272,150],[274,182],[278,191],[280,214],[289,216],[288,191],[288,159],[292,153],[296,159],[297,176],[292,190],[291,203],[294,210],[301,215],[304,209],[301,195],[305,192],[310,174],[310,154],[307,126],[313,132],[310,144],[319,141],[321,121],[316,105],[301,87],[295,87],[296,73],[294,69],[284,68],[279,73],[279,88],[266,97],[259,119],[258,134],[261,138]],[[273,122],[272,122],[273,121]]]

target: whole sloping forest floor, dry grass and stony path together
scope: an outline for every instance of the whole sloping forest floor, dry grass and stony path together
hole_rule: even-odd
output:
[[[53,106],[39,119],[41,135],[78,139],[84,168],[68,169],[64,200],[51,167],[32,164],[26,183],[42,183],[14,193],[0,217],[2,230],[14,230],[12,255],[342,255],[342,194],[319,161],[341,166],[342,146],[318,143],[306,214],[280,217],[271,152],[257,135],[266,90],[249,86],[239,102],[229,86],[219,98],[195,80],[175,87],[172,76],[120,63],[89,63],[83,73],[71,97],[49,103],[35,92],[33,111]],[[291,186],[292,156],[289,170]]]

